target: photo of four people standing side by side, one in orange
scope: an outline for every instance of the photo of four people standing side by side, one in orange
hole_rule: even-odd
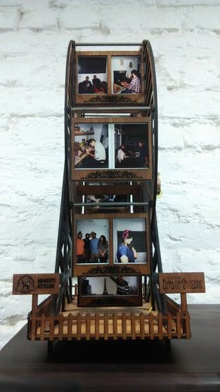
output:
[[[89,227],[96,231],[88,232]],[[109,261],[109,221],[78,219],[76,223],[77,263],[107,263]]]

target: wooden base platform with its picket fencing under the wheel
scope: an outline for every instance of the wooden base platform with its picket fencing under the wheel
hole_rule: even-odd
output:
[[[28,316],[30,340],[138,340],[189,339],[190,316],[174,303],[173,313],[151,310],[148,302],[142,307],[77,307],[77,298],[66,304],[65,311],[50,313],[51,298]]]

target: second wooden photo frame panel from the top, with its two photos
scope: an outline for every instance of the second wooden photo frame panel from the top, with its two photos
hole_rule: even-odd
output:
[[[150,118],[73,118],[71,178],[152,179]]]

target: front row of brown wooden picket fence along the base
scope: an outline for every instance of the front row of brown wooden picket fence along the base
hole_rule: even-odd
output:
[[[166,327],[164,326],[166,324]],[[182,325],[184,324],[184,329]],[[157,316],[150,313],[146,316],[144,313],[140,315],[116,314],[112,315],[98,313],[91,315],[87,313],[85,316],[78,313],[73,316],[40,316],[29,315],[29,331],[28,338],[30,340],[135,340],[135,339],[189,339],[190,334],[190,317],[188,313],[181,316],[177,313],[172,316]]]

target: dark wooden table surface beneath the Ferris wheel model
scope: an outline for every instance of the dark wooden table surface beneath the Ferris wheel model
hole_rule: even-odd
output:
[[[23,327],[0,352],[0,391],[220,391],[220,305],[190,305],[190,340],[30,342]]]

